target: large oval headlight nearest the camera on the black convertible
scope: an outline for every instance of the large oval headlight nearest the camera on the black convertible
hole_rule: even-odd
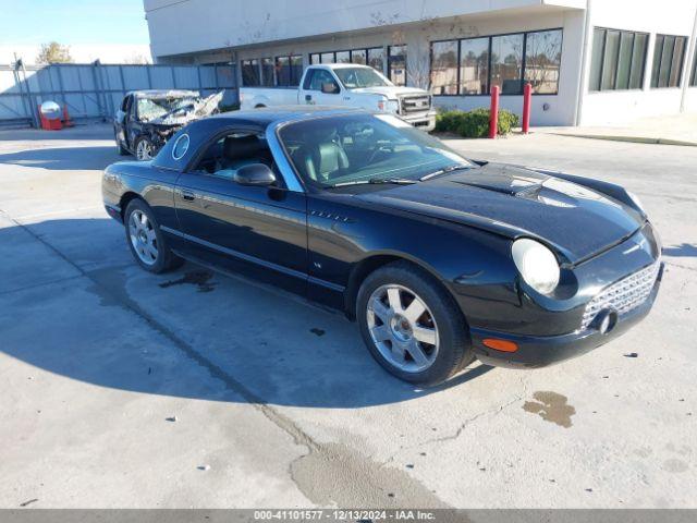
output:
[[[535,240],[523,238],[513,242],[511,253],[528,285],[542,294],[549,294],[557,288],[559,264],[549,248]]]

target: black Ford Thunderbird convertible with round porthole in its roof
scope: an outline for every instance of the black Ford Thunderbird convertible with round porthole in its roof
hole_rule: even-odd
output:
[[[276,108],[188,124],[103,174],[146,270],[182,258],[343,311],[411,382],[540,366],[650,309],[658,236],[624,188],[473,161],[396,117]]]

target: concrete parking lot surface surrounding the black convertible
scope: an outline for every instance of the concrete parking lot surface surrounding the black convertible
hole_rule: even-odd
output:
[[[420,390],[341,315],[140,270],[101,206],[111,133],[0,132],[0,507],[697,507],[697,148],[449,141],[625,185],[667,272],[610,344]]]

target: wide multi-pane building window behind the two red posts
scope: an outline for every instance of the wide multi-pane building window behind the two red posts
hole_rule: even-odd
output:
[[[562,29],[485,36],[431,42],[433,95],[487,95],[498,85],[503,95],[555,95],[562,59]],[[460,66],[457,66],[460,63]]]

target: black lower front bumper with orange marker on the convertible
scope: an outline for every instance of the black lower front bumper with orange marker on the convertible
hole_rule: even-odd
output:
[[[651,290],[651,294],[636,308],[620,316],[614,327],[606,333],[590,327],[582,331],[562,336],[508,335],[487,329],[470,329],[472,346],[477,358],[487,365],[498,367],[543,367],[568,360],[620,337],[646,317],[651,309],[663,276],[663,265]],[[512,341],[517,344],[515,352],[503,352],[484,344],[485,339]]]

